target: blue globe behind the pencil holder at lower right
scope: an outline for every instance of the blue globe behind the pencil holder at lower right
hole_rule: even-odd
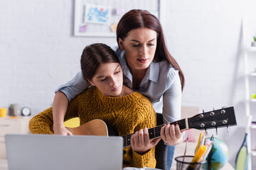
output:
[[[210,138],[208,138],[208,140],[210,140]],[[228,158],[229,152],[227,145],[225,145],[225,142],[222,140],[214,137],[210,170],[223,168],[223,166],[228,162]]]

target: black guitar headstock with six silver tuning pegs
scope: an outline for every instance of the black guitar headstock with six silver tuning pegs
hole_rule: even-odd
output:
[[[198,130],[237,125],[233,107],[204,112],[188,118],[188,127]]]

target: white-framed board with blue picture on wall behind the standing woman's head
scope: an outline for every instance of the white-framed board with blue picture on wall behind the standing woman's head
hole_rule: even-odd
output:
[[[160,19],[161,0],[75,0],[74,36],[115,37],[120,18],[134,8]]]

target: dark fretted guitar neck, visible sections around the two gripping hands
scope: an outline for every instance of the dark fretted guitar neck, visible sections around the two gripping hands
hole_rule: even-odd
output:
[[[176,122],[172,122],[170,123],[171,125],[179,125],[180,129],[181,130],[186,130],[188,129],[188,119],[185,118],[185,119],[182,119],[182,120],[178,120]],[[159,126],[156,126],[154,128],[150,128],[149,129],[149,139],[152,140],[152,139],[155,139],[155,138],[158,138],[158,137],[161,137],[161,128],[163,127],[164,125],[159,125]],[[122,136],[123,139],[124,139],[124,147],[129,147],[131,146],[131,137],[134,133],[132,134],[129,134],[129,135],[124,135]]]

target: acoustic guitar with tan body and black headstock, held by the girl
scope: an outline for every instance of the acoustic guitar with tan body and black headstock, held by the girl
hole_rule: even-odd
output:
[[[230,125],[237,125],[235,120],[235,111],[233,107],[221,108],[218,110],[213,110],[209,112],[200,113],[194,115],[191,118],[184,118],[175,122],[170,123],[171,125],[179,125],[181,130],[188,130],[191,128],[198,130],[207,130],[210,128],[227,127]],[[164,125],[159,125],[154,128],[149,129],[149,139],[155,139],[161,137],[161,128]],[[117,130],[114,130],[110,126],[107,126],[103,120],[95,119],[88,123],[80,125],[77,128],[67,128],[73,135],[118,135]],[[110,130],[111,129],[111,130]],[[111,132],[111,134],[110,134]],[[129,147],[131,145],[131,137],[134,133],[129,135],[124,135],[124,147]]]

